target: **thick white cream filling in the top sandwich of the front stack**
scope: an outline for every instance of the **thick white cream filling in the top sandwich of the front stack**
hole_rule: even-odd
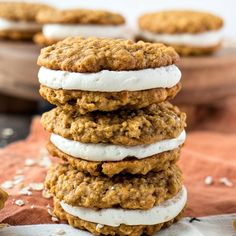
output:
[[[175,65],[135,71],[102,70],[97,73],[77,73],[41,67],[39,82],[49,88],[100,92],[140,91],[171,88],[181,78]]]

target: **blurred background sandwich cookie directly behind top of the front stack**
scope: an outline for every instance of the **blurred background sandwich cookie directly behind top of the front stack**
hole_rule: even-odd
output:
[[[122,15],[86,9],[50,9],[41,11],[37,21],[43,24],[42,33],[35,36],[40,45],[52,45],[67,37],[126,38],[127,30]]]

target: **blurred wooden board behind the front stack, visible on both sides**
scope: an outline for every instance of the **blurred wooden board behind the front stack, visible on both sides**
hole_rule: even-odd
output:
[[[0,41],[0,93],[38,100],[40,48],[30,42]],[[212,56],[187,57],[179,62],[183,89],[177,104],[211,104],[236,95],[236,48]]]

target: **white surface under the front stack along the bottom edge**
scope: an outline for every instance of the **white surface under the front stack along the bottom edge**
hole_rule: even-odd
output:
[[[201,221],[189,222],[186,217],[170,228],[154,236],[234,236],[233,221],[236,214],[199,217]],[[65,236],[92,236],[88,232],[74,229],[65,224],[20,225],[0,229],[1,236],[56,236],[56,231],[63,229]]]

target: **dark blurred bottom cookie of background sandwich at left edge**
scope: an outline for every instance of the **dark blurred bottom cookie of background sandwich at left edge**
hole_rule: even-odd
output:
[[[0,30],[0,38],[10,40],[32,40],[34,31]]]

